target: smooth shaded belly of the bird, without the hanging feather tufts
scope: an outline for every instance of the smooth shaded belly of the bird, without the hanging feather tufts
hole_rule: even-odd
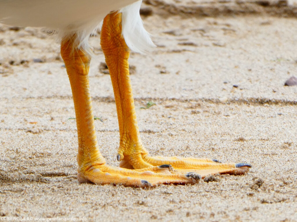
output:
[[[135,0],[0,0],[0,22],[67,32],[84,30],[95,28],[109,12],[133,2]]]

